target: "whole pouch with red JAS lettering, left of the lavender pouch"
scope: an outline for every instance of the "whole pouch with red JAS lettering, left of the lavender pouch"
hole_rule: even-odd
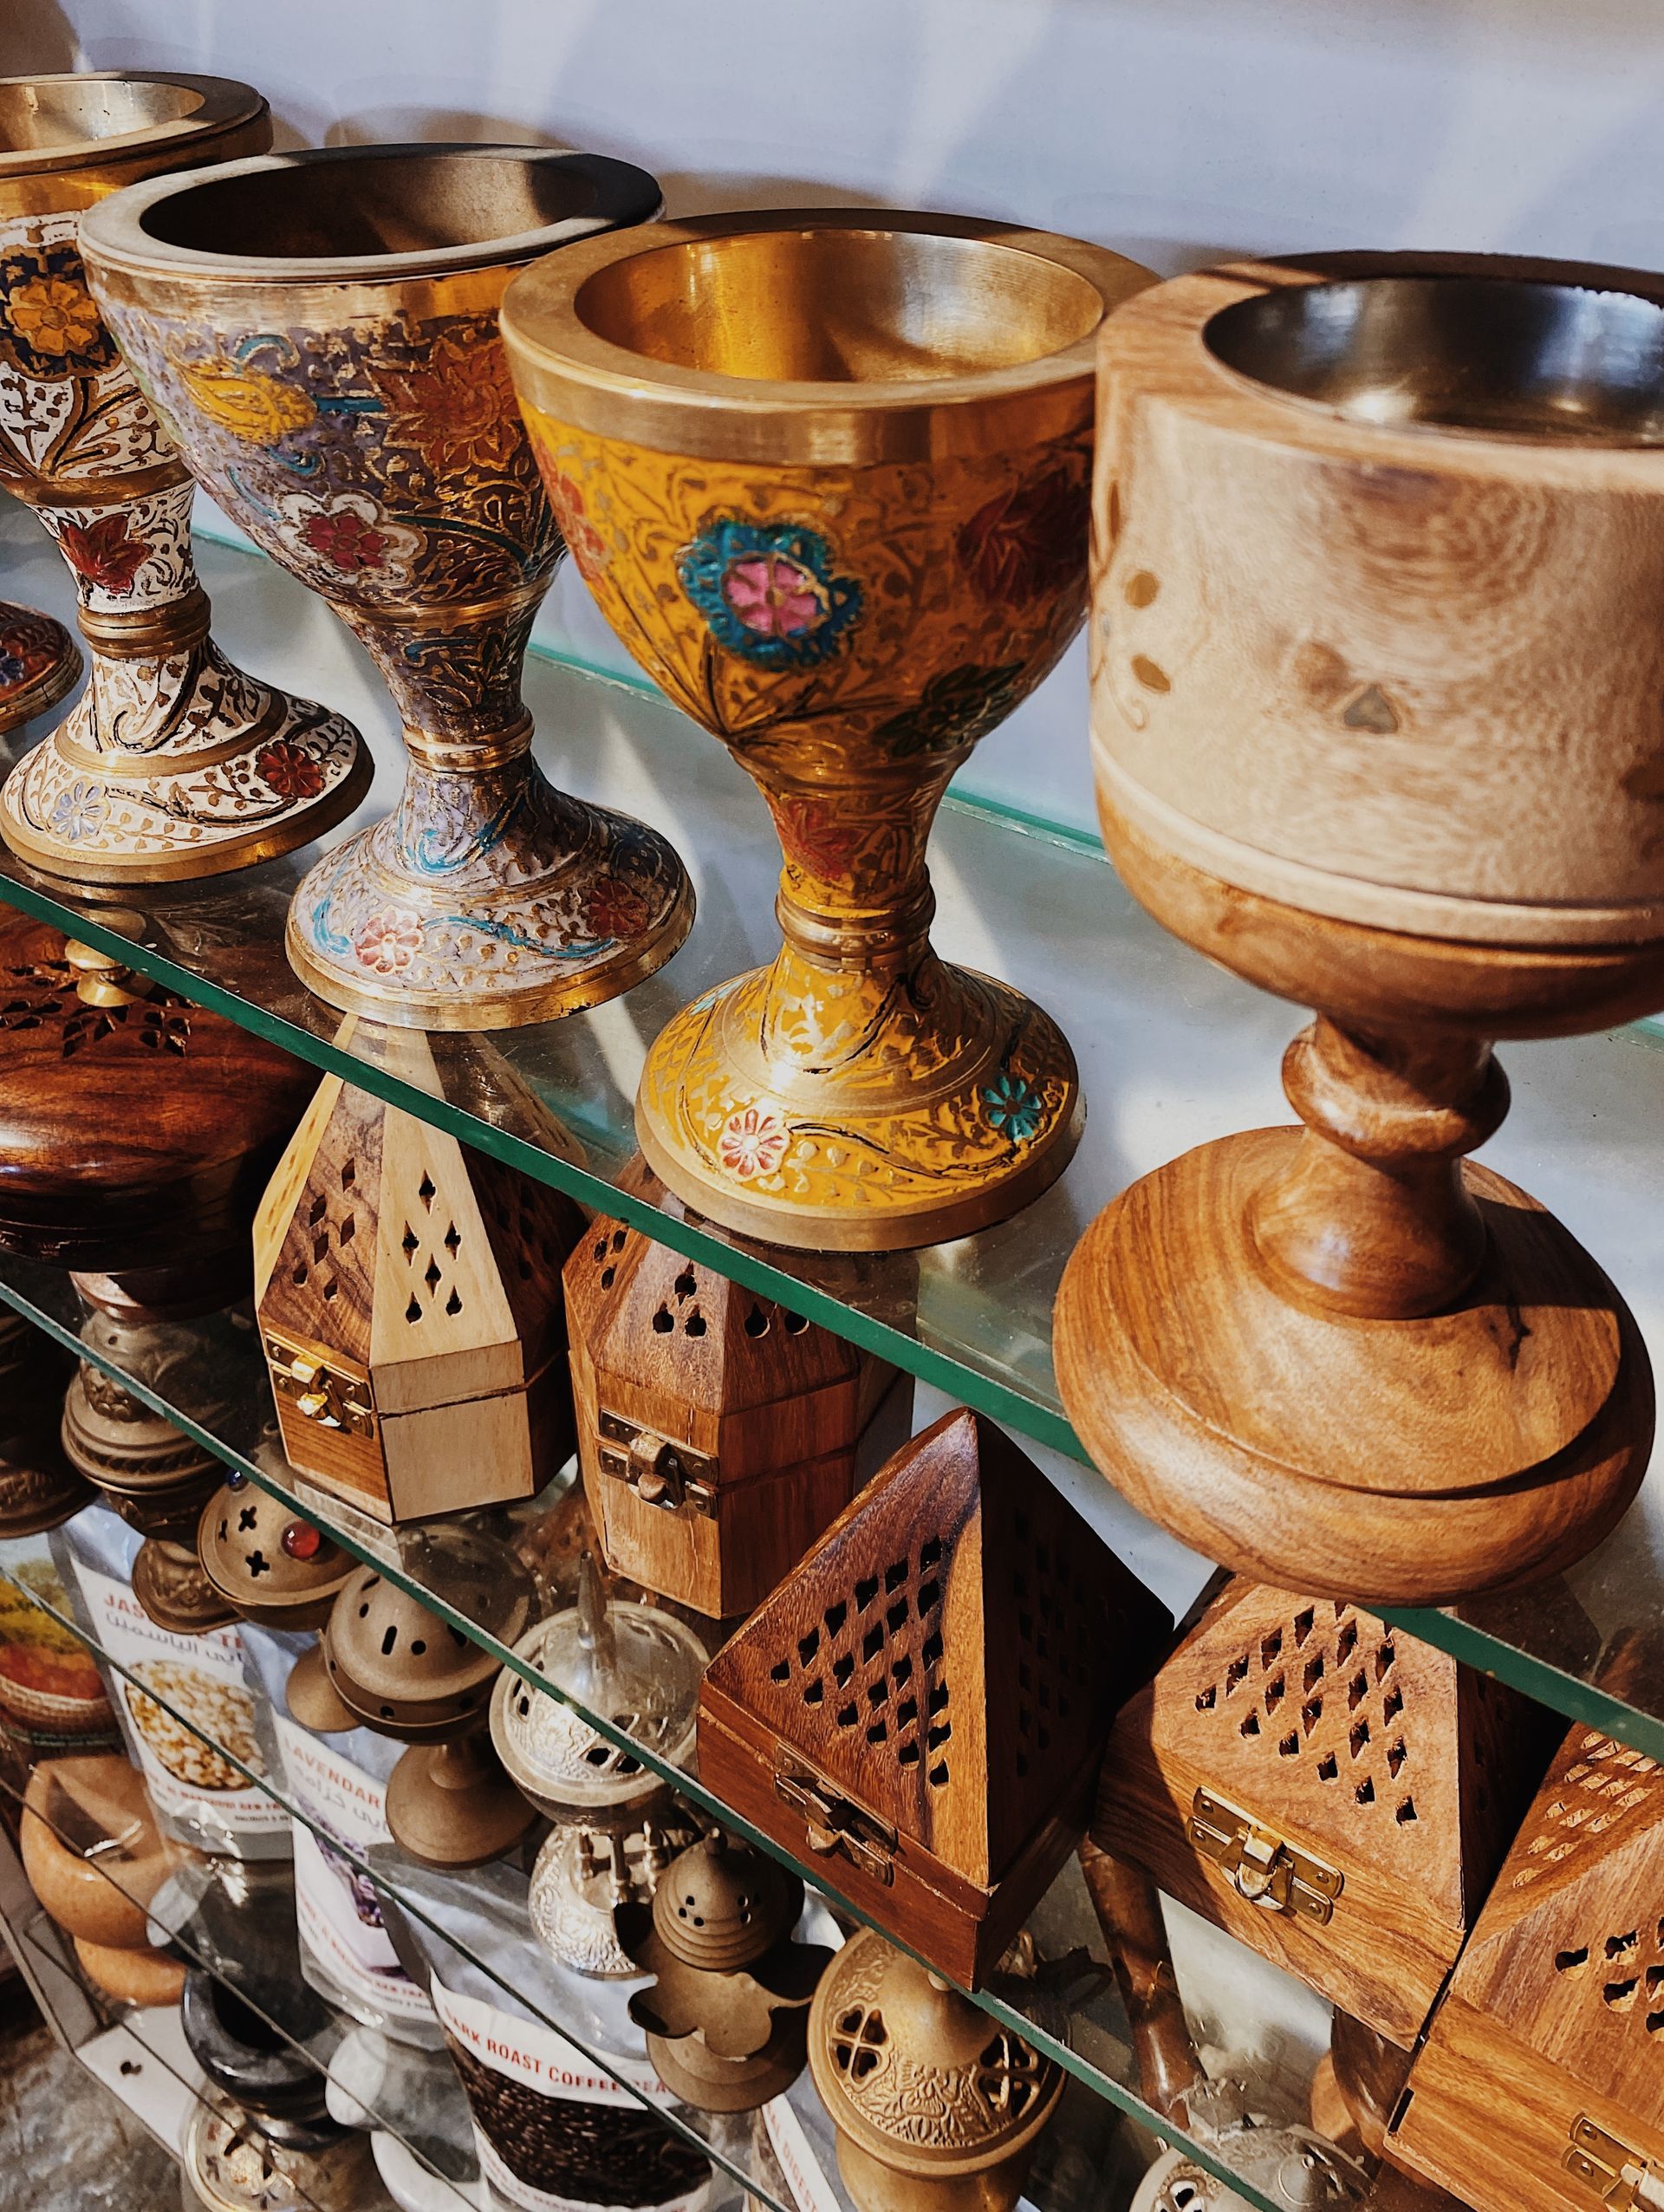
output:
[[[157,1825],[199,1851],[288,1858],[290,1818],[250,1781],[263,1778],[266,1759],[243,1683],[241,1635],[212,1628],[206,1637],[181,1637],[157,1628],[133,1595],[142,1542],[108,1506],[86,1506],[51,1537],[75,1617],[95,1650],[115,1661],[100,1672]]]

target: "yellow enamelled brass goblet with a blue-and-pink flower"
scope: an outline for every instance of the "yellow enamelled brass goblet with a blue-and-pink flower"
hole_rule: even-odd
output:
[[[679,1199],[810,1250],[958,1237],[1080,1135],[1075,1062],[929,945],[925,841],[1084,615],[1091,361],[1148,283],[949,215],[724,215],[516,279],[502,334],[586,584],[757,779],[786,945],[655,1042]]]

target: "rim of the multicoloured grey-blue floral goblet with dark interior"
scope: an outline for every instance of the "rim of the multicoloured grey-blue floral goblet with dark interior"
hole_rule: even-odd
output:
[[[294,173],[319,166],[350,168],[367,161],[502,161],[566,168],[591,181],[595,201],[582,215],[564,215],[533,230],[505,232],[458,246],[436,246],[394,254],[232,254],[177,246],[153,237],[144,223],[153,208],[190,192],[217,190],[239,177]],[[250,155],[210,168],[148,177],[115,192],[82,217],[82,252],[97,276],[193,281],[219,288],[303,290],[341,283],[398,283],[454,276],[471,270],[518,268],[542,254],[571,248],[595,232],[651,223],[664,208],[657,177],[635,161],[586,153],[578,146],[518,146],[476,139],[401,139],[385,146],[305,146],[294,153]]]

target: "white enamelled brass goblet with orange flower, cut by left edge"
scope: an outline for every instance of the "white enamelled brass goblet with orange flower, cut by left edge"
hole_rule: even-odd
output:
[[[350,721],[257,684],[208,635],[190,476],[115,352],[77,248],[104,195],[270,142],[266,102],[226,77],[0,77],[0,484],[69,562],[93,664],[77,706],[0,790],[0,834],[53,876],[215,876],[310,843],[370,787]],[[49,677],[29,712],[75,672]]]

